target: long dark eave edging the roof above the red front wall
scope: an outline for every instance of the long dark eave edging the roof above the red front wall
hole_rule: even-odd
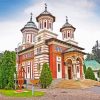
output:
[[[73,46],[73,47],[75,47],[75,48],[78,48],[78,49],[84,50],[84,48],[82,48],[82,47],[79,47],[79,46],[76,46],[76,45],[73,45],[73,44],[70,44],[70,43],[67,43],[67,42],[61,41],[61,40],[56,39],[56,38],[50,38],[50,39],[47,39],[45,42],[48,43],[48,42],[51,42],[51,41],[60,42],[60,43],[63,43],[63,44],[65,44],[65,45]]]

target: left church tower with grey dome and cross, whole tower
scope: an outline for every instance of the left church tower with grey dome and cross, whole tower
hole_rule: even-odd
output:
[[[36,24],[32,21],[32,13],[29,22],[21,29],[23,34],[22,49],[25,49],[35,43],[35,36],[38,33]]]

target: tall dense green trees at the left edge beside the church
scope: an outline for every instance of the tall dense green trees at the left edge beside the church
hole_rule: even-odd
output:
[[[16,73],[15,52],[5,51],[0,59],[0,88],[14,88],[14,73]]]

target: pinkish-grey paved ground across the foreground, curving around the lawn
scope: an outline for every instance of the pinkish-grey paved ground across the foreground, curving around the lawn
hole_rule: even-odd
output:
[[[100,100],[100,94],[91,89],[37,89],[46,92],[45,96],[12,98],[0,95],[0,100]]]

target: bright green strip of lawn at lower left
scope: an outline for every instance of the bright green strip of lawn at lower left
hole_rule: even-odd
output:
[[[32,91],[26,90],[27,92],[16,93],[15,90],[0,90],[0,94],[10,97],[32,97]],[[43,96],[44,92],[35,91],[33,96]]]

